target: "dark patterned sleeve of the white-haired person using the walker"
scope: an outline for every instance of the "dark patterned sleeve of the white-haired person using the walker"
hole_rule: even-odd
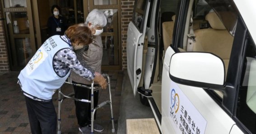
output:
[[[78,61],[80,62],[80,64],[84,67],[84,68],[87,68],[89,71],[91,71],[93,74],[94,74],[94,70],[93,68],[89,67],[85,62],[84,62],[84,58],[83,58],[83,53],[84,51],[87,51],[89,48],[88,45],[84,45],[84,47],[82,49],[78,49],[78,50],[75,50],[74,53],[76,54],[77,56],[77,59]]]

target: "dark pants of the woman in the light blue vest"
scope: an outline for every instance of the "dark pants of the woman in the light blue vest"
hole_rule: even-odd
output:
[[[32,134],[56,134],[57,114],[52,100],[40,102],[25,96]]]

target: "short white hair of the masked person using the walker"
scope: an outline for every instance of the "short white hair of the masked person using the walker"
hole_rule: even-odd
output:
[[[86,18],[86,24],[91,22],[93,27],[100,26],[105,27],[107,25],[107,19],[104,13],[98,9],[93,9]]]

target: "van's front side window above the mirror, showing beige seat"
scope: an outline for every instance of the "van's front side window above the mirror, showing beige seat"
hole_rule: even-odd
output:
[[[193,27],[190,27],[194,30],[195,42],[193,42],[192,45],[188,45],[186,50],[208,52],[219,56],[223,60],[226,77],[234,40],[234,33],[231,34],[231,31],[227,28],[230,28],[231,24],[236,24],[237,18],[232,17],[229,22],[223,21],[222,18],[229,18],[230,14],[234,15],[236,13],[232,7],[228,7],[230,3],[222,4],[222,2],[227,1],[195,1],[193,7]],[[235,26],[232,26],[232,28],[235,28]],[[217,95],[218,99],[223,98],[222,92],[218,90],[214,90],[214,92],[212,92],[212,94],[214,94],[214,96]]]

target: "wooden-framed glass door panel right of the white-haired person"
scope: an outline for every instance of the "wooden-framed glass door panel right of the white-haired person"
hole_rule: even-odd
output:
[[[107,18],[102,33],[102,69],[121,69],[120,0],[88,0],[89,10],[99,9]]]

